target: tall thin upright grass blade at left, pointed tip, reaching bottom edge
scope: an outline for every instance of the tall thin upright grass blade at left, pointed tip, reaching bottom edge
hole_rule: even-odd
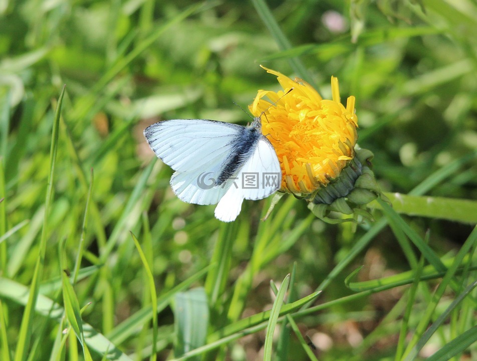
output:
[[[23,313],[22,324],[20,326],[20,332],[18,336],[17,349],[15,352],[15,361],[24,361],[28,354],[28,347],[30,345],[30,337],[32,334],[32,323],[35,311],[35,303],[37,302],[38,289],[40,287],[40,281],[43,275],[43,267],[45,264],[45,252],[47,244],[47,232],[48,232],[48,215],[50,211],[50,203],[53,194],[53,177],[55,174],[56,155],[58,152],[58,131],[60,125],[61,105],[63,103],[63,96],[65,95],[66,87],[63,90],[58,99],[58,104],[55,112],[55,118],[53,121],[52,142],[50,149],[50,172],[48,174],[48,187],[45,200],[45,216],[43,221],[42,236],[40,239],[40,250],[37,263],[35,265],[35,271],[30,286],[29,299]]]

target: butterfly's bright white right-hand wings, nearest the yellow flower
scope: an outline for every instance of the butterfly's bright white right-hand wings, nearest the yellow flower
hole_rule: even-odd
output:
[[[270,141],[261,136],[255,150],[234,176],[237,187],[230,186],[215,207],[215,218],[231,222],[239,215],[244,199],[260,200],[280,188],[282,172]]]

